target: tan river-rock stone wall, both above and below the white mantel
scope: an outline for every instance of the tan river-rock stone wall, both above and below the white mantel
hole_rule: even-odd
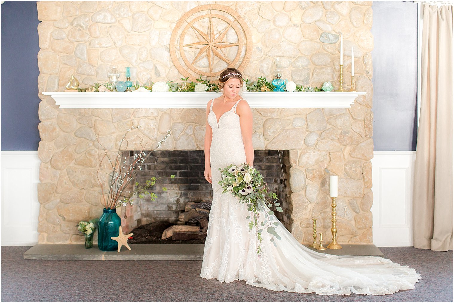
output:
[[[81,86],[107,81],[110,64],[130,66],[132,80],[178,81],[169,39],[179,17],[214,1],[38,1],[39,243],[81,243],[79,220],[102,212],[99,142],[109,151],[131,126],[127,150],[151,149],[168,129],[163,150],[203,149],[204,109],[60,109],[44,91],[63,91],[71,74]],[[356,90],[367,92],[351,108],[253,108],[254,149],[288,149],[292,234],[312,241],[311,218],[331,239],[329,175],[339,178],[338,239],[372,243],[371,1],[218,1],[250,27],[248,78],[271,77],[273,58],[284,57],[284,78],[297,84],[338,85],[339,43],[344,74],[355,52]],[[350,57],[349,57],[350,56]],[[348,84],[348,81],[345,81]],[[208,101],[208,100],[207,100]],[[102,170],[105,165],[101,163]],[[101,180],[105,182],[105,180]],[[105,183],[104,183],[105,184]],[[121,212],[127,211],[120,209]]]

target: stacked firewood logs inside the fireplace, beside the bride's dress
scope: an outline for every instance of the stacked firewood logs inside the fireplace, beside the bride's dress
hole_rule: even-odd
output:
[[[177,225],[164,230],[161,238],[172,237],[173,240],[205,239],[210,210],[211,202],[205,200],[200,203],[186,203],[184,212],[178,216]]]

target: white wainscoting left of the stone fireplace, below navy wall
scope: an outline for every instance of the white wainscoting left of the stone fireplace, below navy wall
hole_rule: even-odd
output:
[[[1,245],[38,243],[37,151],[1,152]]]

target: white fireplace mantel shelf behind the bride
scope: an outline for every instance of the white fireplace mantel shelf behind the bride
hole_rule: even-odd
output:
[[[244,92],[251,108],[349,108],[366,92]],[[60,108],[206,108],[213,92],[43,92]]]

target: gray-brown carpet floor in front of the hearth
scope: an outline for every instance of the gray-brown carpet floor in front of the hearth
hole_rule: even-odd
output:
[[[453,251],[381,247],[415,268],[415,289],[392,295],[274,292],[244,281],[199,277],[202,261],[25,260],[28,246],[1,247],[1,301],[148,302],[453,302]]]

